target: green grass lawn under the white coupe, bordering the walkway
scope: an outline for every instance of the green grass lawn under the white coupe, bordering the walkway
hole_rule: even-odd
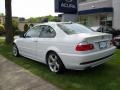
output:
[[[0,54],[63,90],[120,90],[120,50],[116,51],[111,61],[97,68],[69,70],[58,75],[51,73],[46,65],[24,57],[14,57],[11,47],[3,41],[0,40]]]

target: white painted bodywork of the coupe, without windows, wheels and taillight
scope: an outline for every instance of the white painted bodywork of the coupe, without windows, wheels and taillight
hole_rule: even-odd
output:
[[[112,40],[112,36],[110,34],[92,32],[67,35],[57,26],[57,24],[59,23],[49,22],[36,25],[51,26],[56,32],[56,36],[54,38],[38,37],[15,39],[14,43],[18,47],[19,53],[27,58],[46,64],[47,52],[54,51],[61,58],[65,68],[75,70],[83,70],[88,67],[95,67],[103,64],[109,60],[112,54],[114,54],[116,48],[110,44],[110,41]],[[104,36],[103,39],[102,36]],[[92,43],[94,45],[94,49],[89,51],[76,51],[75,47],[79,43],[84,43],[85,41]],[[99,48],[99,43],[101,41],[107,42],[107,48]],[[94,60],[98,61],[92,62]],[[81,64],[84,62],[91,63]]]

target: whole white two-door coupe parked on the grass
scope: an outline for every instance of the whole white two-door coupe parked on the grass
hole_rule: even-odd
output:
[[[84,70],[105,63],[114,54],[112,35],[72,22],[48,22],[14,40],[13,55],[48,65],[54,73]]]

